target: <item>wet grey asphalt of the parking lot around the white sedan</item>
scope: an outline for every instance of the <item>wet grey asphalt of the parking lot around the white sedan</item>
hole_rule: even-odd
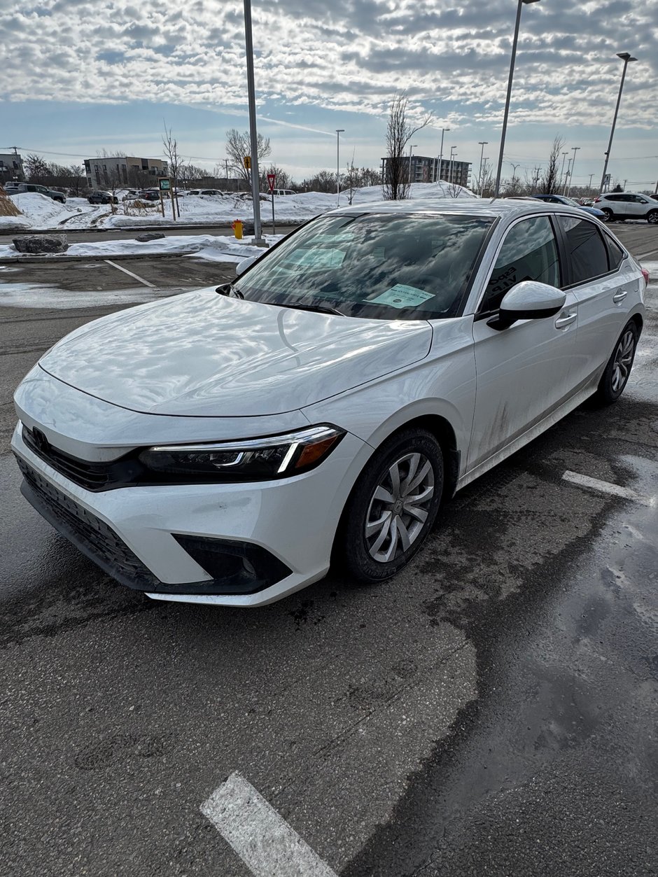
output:
[[[658,229],[613,231],[658,262]],[[241,611],[121,588],[18,493],[11,393],[39,354],[234,273],[120,264],[138,279],[101,260],[0,268],[0,871],[658,873],[658,273],[619,403],[461,491],[395,580],[331,575]],[[275,818],[303,838],[297,864],[274,844],[247,867],[227,789],[267,802],[252,847]]]

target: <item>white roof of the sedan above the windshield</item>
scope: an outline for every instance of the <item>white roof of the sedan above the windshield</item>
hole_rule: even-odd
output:
[[[444,213],[453,216],[471,216],[494,219],[532,216],[537,213],[554,213],[557,204],[539,199],[525,201],[517,198],[414,198],[404,201],[380,201],[369,204],[353,204],[340,207],[332,213]],[[560,204],[560,212],[567,211],[583,217],[579,207]]]

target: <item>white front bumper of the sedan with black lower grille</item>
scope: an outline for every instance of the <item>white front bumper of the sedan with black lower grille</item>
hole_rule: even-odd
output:
[[[11,447],[26,498],[105,572],[154,599],[226,606],[265,605],[326,574],[340,514],[371,452],[348,433],[317,469],[283,481],[93,493],[32,453],[21,432],[19,423]],[[176,536],[238,543],[261,559],[266,553],[276,581],[263,586],[261,578],[253,593],[221,593],[222,580]]]

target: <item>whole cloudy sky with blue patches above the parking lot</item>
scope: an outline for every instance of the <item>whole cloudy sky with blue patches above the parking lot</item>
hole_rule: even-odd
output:
[[[396,89],[433,125],[414,153],[457,147],[497,160],[515,0],[253,0],[259,130],[298,181],[354,155],[377,167]],[[161,154],[162,118],[186,158],[212,167],[224,132],[247,128],[241,0],[0,0],[0,151],[63,164],[97,150]],[[575,183],[594,184],[623,64],[633,53],[609,170],[626,189],[658,180],[658,0],[525,5],[504,175],[546,162],[555,135],[580,146]],[[57,155],[55,153],[64,153]]]

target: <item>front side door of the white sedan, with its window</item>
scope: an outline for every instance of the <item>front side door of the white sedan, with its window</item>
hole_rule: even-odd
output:
[[[503,330],[489,325],[504,294],[524,280],[562,286],[550,217],[526,217],[511,226],[476,311],[476,410],[469,469],[558,408],[573,390],[578,323],[573,293],[567,293],[564,307],[554,317],[519,320]]]

